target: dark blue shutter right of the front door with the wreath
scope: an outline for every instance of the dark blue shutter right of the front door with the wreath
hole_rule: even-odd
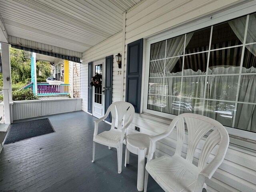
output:
[[[112,104],[112,74],[113,74],[113,55],[106,57],[106,73],[105,73],[105,112]],[[105,119],[111,123],[111,113]]]

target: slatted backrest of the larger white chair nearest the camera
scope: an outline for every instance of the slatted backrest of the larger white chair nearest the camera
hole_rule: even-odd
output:
[[[182,145],[184,143],[185,122],[186,127],[188,129],[188,150],[186,154],[186,161],[188,161],[188,163],[191,164],[198,143],[206,133],[212,130],[212,132],[210,132],[202,146],[202,150],[198,161],[198,169],[200,171],[204,169],[204,173],[206,173],[207,177],[211,178],[212,174],[216,171],[218,166],[220,166],[220,164],[224,160],[224,156],[226,154],[229,144],[228,132],[226,131],[224,126],[222,126],[222,124],[220,124],[214,119],[198,114],[181,114],[174,118],[169,127],[170,130],[174,126],[176,126],[177,129],[177,144],[175,155],[178,156],[181,156]],[[206,166],[210,153],[218,144],[219,146],[215,154],[215,157]]]

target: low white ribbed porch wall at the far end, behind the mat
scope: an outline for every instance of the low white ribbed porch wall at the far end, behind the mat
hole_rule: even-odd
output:
[[[82,110],[82,98],[14,101],[13,120]]]

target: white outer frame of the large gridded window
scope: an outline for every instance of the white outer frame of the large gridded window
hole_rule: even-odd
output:
[[[143,76],[144,76],[144,92],[142,93],[143,95],[143,102],[142,102],[142,112],[144,113],[148,113],[148,114],[153,114],[156,116],[160,116],[163,118],[168,118],[168,119],[173,119],[174,117],[176,117],[176,115],[172,115],[172,114],[167,114],[167,113],[163,113],[163,112],[158,112],[158,111],[153,111],[153,110],[149,110],[147,109],[147,104],[148,104],[148,82],[149,82],[149,68],[150,68],[150,47],[151,44],[154,44],[156,42],[160,42],[163,40],[167,40],[170,38],[174,38],[180,35],[184,35],[187,34],[189,32],[193,32],[196,30],[200,30],[206,27],[210,27],[212,25],[215,24],[219,24],[222,22],[226,22],[228,20],[232,20],[235,18],[238,18],[240,16],[246,16],[247,14],[251,14],[253,12],[255,12],[256,10],[256,4],[255,2],[248,2],[246,4],[242,4],[239,6],[236,6],[234,8],[230,8],[228,10],[222,11],[222,12],[218,12],[215,14],[212,14],[210,16],[206,16],[204,18],[198,19],[198,20],[194,20],[189,22],[188,24],[184,24],[182,26],[179,26],[177,28],[171,29],[167,32],[149,37],[147,39],[145,39],[145,43],[144,43],[144,53],[146,55],[146,58],[144,60],[144,71],[143,71]],[[239,137],[243,137],[243,138],[249,138],[252,140],[256,140],[256,133],[253,132],[248,132],[248,131],[244,131],[244,130],[239,130],[236,128],[230,128],[230,127],[226,127],[226,130],[228,131],[229,134],[232,135],[236,135]]]

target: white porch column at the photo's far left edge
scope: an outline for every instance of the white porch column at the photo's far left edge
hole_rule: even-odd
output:
[[[2,69],[3,69],[3,94],[5,123],[11,123],[10,101],[12,101],[12,79],[9,44],[1,43]]]

